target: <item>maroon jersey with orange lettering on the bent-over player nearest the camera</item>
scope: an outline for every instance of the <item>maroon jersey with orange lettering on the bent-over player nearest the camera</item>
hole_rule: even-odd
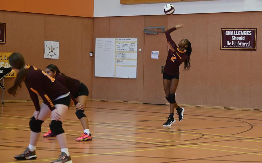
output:
[[[56,81],[54,78],[47,75],[45,71],[39,70],[30,65],[28,67],[24,83],[35,105],[35,110],[40,110],[37,95],[41,96],[44,103],[48,105],[51,111],[54,110],[55,107],[52,101],[59,96],[67,94],[69,90],[67,90],[67,88],[65,88],[59,81]]]

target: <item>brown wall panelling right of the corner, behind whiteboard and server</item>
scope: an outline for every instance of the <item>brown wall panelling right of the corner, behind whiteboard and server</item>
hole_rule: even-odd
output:
[[[114,79],[93,77],[93,98],[144,101],[145,85],[161,92],[163,85],[148,79],[151,69],[145,66],[153,48],[152,41],[145,39],[143,28],[165,26],[167,29],[177,23],[184,28],[174,31],[171,36],[175,42],[187,38],[192,44],[191,69],[182,71],[177,88],[176,100],[180,104],[228,106],[240,108],[261,108],[261,35],[262,12],[206,13],[182,15],[151,15],[133,17],[94,18],[94,39],[97,37],[138,38],[138,76],[137,79]],[[257,28],[257,51],[221,51],[221,28]],[[155,37],[157,38],[157,36]],[[149,40],[149,41],[145,41]],[[166,48],[166,42],[159,42]],[[160,49],[161,51],[161,49]],[[162,61],[161,65],[165,64]],[[159,65],[156,65],[157,67]],[[145,67],[145,68],[144,68]],[[158,68],[157,68],[158,69]],[[156,71],[157,71],[156,69]],[[162,77],[159,75],[159,77]],[[144,87],[143,87],[144,86]],[[153,91],[152,91],[153,92]],[[147,95],[149,96],[149,95]],[[165,96],[164,91],[158,94]],[[155,102],[155,97],[149,103]],[[148,101],[147,101],[148,102]]]

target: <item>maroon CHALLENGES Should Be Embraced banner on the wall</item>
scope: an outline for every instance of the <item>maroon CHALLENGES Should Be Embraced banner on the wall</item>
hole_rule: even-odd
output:
[[[221,28],[220,50],[257,50],[257,28]]]

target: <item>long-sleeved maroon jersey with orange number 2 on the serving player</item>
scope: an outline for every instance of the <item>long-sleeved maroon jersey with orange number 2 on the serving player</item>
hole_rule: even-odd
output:
[[[166,58],[166,65],[164,67],[164,72],[168,75],[178,75],[179,74],[179,66],[181,63],[185,62],[188,59],[188,55],[184,51],[179,51],[178,47],[176,46],[175,42],[172,40],[170,33],[176,30],[176,28],[171,28],[167,30],[166,33],[166,40],[170,42],[172,47],[174,48],[174,52],[169,49],[168,56]]]

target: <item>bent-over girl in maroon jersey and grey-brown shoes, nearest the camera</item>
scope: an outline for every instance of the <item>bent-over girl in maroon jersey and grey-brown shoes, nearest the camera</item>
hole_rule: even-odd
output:
[[[62,121],[70,104],[69,90],[44,71],[26,65],[24,57],[20,53],[10,55],[9,63],[17,72],[17,77],[14,85],[8,89],[8,93],[15,96],[18,87],[21,88],[24,82],[35,105],[35,112],[29,122],[31,129],[29,146],[22,154],[18,154],[14,158],[17,160],[37,158],[35,149],[41,133],[41,125],[51,115],[50,129],[56,133],[61,148],[60,158],[52,161],[52,163],[72,163],[68,152],[67,138],[62,128]],[[43,99],[41,106],[39,106],[37,95]]]

